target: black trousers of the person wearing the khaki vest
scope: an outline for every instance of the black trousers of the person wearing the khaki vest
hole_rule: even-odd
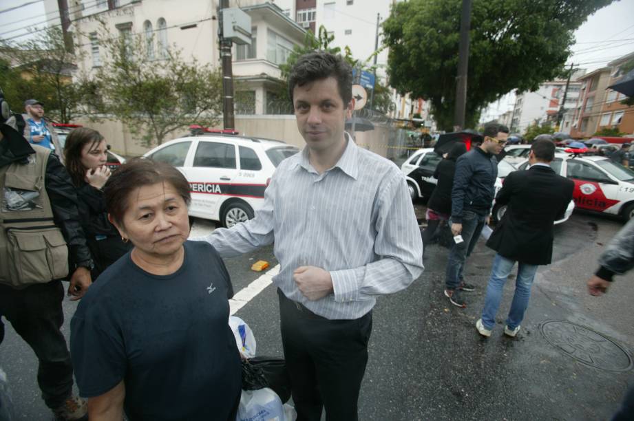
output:
[[[35,352],[39,360],[37,382],[47,407],[56,409],[70,397],[73,369],[66,340],[60,331],[64,323],[61,281],[14,290],[0,285],[0,315]]]

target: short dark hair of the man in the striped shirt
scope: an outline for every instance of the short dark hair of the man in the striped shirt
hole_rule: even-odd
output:
[[[337,79],[339,96],[344,100],[344,108],[352,99],[352,67],[339,54],[315,50],[299,57],[288,75],[288,96],[293,104],[293,89],[306,83],[332,76]]]

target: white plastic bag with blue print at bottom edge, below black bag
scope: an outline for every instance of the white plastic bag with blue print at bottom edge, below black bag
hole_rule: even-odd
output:
[[[268,387],[243,390],[236,421],[286,421],[284,405],[279,396]]]

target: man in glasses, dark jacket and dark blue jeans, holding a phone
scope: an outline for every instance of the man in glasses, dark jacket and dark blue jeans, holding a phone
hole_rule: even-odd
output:
[[[489,215],[495,195],[498,177],[498,155],[509,137],[504,125],[485,125],[484,141],[478,147],[462,155],[456,161],[456,173],[452,188],[452,233],[463,241],[454,243],[447,261],[445,296],[453,305],[467,307],[461,291],[473,291],[474,286],[465,282],[463,269],[467,257],[476,246],[480,232],[489,223]],[[456,238],[454,237],[454,240]]]

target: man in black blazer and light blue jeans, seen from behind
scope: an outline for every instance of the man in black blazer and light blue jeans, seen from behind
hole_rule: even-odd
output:
[[[549,164],[554,155],[555,144],[551,137],[540,136],[531,147],[530,168],[510,173],[496,197],[496,204],[508,207],[487,241],[487,246],[497,254],[482,318],[476,322],[483,336],[491,336],[502,290],[515,262],[518,262],[518,274],[504,328],[507,336],[516,336],[520,330],[538,265],[551,263],[553,222],[564,215],[575,186],[572,180],[551,169]]]

